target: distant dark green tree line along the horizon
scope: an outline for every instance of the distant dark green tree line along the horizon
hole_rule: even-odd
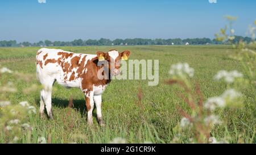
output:
[[[250,37],[243,36],[235,36],[233,40],[234,43],[238,41],[245,41],[250,43],[252,39]],[[22,43],[17,43],[16,40],[3,40],[0,41],[0,47],[43,47],[43,46],[88,46],[88,45],[205,45],[205,44],[228,44],[222,43],[221,41],[217,41],[216,39],[209,38],[193,38],[193,39],[142,39],[142,38],[134,38],[134,39],[104,39],[101,38],[99,40],[82,40],[75,39],[73,41],[38,41],[37,43],[30,43],[28,41],[24,41]]]

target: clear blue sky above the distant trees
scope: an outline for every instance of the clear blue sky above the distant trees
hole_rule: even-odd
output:
[[[246,36],[255,8],[254,0],[3,0],[0,40],[212,39],[224,15],[237,16],[236,35]]]

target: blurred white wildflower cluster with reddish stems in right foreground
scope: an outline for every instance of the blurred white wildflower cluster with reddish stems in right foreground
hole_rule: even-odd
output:
[[[179,66],[179,67],[177,67]],[[180,79],[171,79],[168,84],[178,83],[181,87],[184,87],[185,94],[182,95],[185,102],[191,108],[191,114],[188,114],[183,109],[180,108],[180,113],[183,115],[180,123],[174,128],[176,136],[173,139],[173,143],[182,143],[184,135],[189,135],[184,132],[192,132],[192,137],[187,137],[189,143],[227,143],[226,141],[217,141],[214,137],[210,138],[210,133],[213,131],[216,125],[226,125],[225,122],[221,120],[220,114],[216,113],[216,108],[239,108],[242,106],[242,94],[236,89],[229,88],[224,91],[218,97],[208,98],[205,102],[203,95],[201,94],[199,85],[196,86],[196,93],[193,93],[191,89],[191,84],[188,82],[187,77],[192,77],[188,73],[188,70],[194,69],[190,68],[188,64],[185,65],[172,65],[170,74],[172,78],[183,77]],[[177,69],[179,68],[179,69]],[[178,70],[178,71],[177,71]],[[186,70],[186,71],[185,71]],[[182,74],[182,76],[180,76]],[[187,76],[187,77],[184,77]],[[213,79],[220,81],[224,79],[227,83],[235,82],[237,78],[242,78],[243,75],[236,70],[232,72],[227,72],[221,70],[213,77]],[[199,100],[197,98],[200,98]],[[183,136],[181,136],[183,135]],[[209,139],[210,138],[210,139]]]

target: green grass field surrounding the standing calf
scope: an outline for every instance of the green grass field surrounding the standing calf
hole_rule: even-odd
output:
[[[159,60],[159,85],[148,86],[147,80],[114,80],[102,95],[102,115],[106,126],[101,128],[96,121],[94,125],[86,124],[84,94],[79,89],[65,89],[55,83],[52,104],[55,119],[40,119],[39,112],[32,122],[34,130],[30,143],[37,143],[38,137],[46,137],[48,143],[110,143],[116,137],[122,137],[126,143],[171,143],[174,138],[173,128],[182,116],[177,110],[180,106],[189,112],[187,104],[180,99],[177,86],[166,85],[170,78],[168,71],[172,64],[187,62],[195,69],[191,82],[200,83],[204,98],[220,95],[226,85],[213,81],[218,70],[238,70],[243,72],[238,61],[227,57],[229,46],[119,46],[119,47],[54,47],[76,53],[92,53],[117,49],[131,51],[130,59]],[[18,92],[5,96],[13,104],[27,100],[39,110],[40,91],[29,94],[22,90],[33,83],[38,83],[35,76],[35,55],[38,47],[0,48],[0,64],[11,70],[33,75],[32,81],[16,80],[13,74],[1,77],[1,83],[7,79],[14,82]],[[142,105],[138,104],[138,91],[142,90]],[[243,137],[245,143],[256,143],[255,118],[252,116],[256,108],[256,90],[249,86],[243,90],[244,106],[240,110],[222,112],[222,118],[228,118],[227,128],[216,127],[212,136],[217,139],[227,134],[229,143],[237,143]],[[73,97],[73,108],[68,108],[69,98]],[[3,134],[3,133],[1,133]],[[1,136],[0,136],[1,137]],[[23,137],[26,143],[26,135]],[[184,141],[183,143],[187,143]],[[0,143],[5,143],[0,139]]]

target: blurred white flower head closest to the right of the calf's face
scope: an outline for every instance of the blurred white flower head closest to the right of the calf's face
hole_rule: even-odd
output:
[[[169,73],[171,74],[171,76],[188,75],[189,77],[193,77],[194,69],[189,67],[187,63],[184,63],[184,64],[178,63],[171,66]]]

